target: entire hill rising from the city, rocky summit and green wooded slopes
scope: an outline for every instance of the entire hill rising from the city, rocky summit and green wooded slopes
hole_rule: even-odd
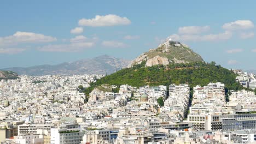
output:
[[[187,83],[192,90],[196,85],[206,86],[210,82],[224,83],[228,93],[229,90],[242,89],[235,78],[236,74],[232,71],[215,62],[204,62],[187,45],[167,38],[158,48],[142,53],[133,60],[130,67],[90,83],[91,87],[85,93],[88,95],[95,87],[103,84],[140,87]]]

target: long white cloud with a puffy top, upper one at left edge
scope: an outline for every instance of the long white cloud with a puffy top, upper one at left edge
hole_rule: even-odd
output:
[[[31,32],[16,32],[7,37],[0,37],[0,44],[18,44],[18,43],[48,43],[57,39],[48,35],[31,33]]]

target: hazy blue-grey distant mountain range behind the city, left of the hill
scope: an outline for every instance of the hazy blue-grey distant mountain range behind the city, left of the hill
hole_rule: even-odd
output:
[[[5,68],[2,70],[14,71],[19,75],[73,75],[73,74],[112,74],[117,70],[127,67],[130,61],[115,58],[108,55],[102,55],[90,59],[82,59],[72,63],[61,63],[57,65],[37,65],[33,67]]]

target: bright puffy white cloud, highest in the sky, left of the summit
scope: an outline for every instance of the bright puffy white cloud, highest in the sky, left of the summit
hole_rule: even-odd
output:
[[[118,26],[118,25],[130,25],[131,21],[126,17],[120,17],[118,15],[96,15],[94,19],[80,19],[78,21],[79,26],[90,27],[104,27],[104,26]]]

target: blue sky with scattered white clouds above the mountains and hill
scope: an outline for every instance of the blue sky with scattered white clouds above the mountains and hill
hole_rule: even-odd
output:
[[[255,5],[256,1],[1,1],[0,68],[104,54],[133,59],[171,37],[206,62],[256,69]]]

